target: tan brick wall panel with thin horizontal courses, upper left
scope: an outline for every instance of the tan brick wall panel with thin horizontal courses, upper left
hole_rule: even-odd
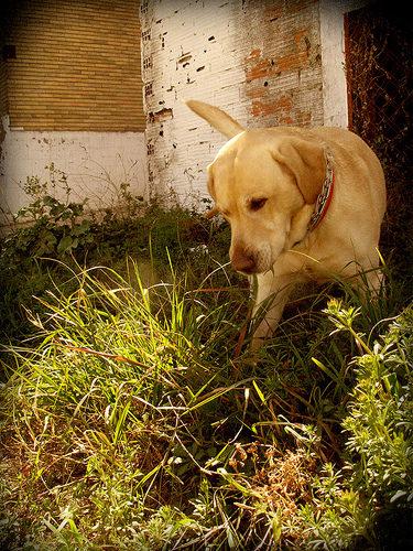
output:
[[[2,34],[17,57],[2,62],[0,98],[12,129],[144,130],[139,1],[11,6]]]

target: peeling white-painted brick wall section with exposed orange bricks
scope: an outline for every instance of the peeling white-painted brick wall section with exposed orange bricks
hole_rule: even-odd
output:
[[[323,125],[318,1],[142,0],[141,25],[152,190],[207,196],[225,138],[185,99],[250,127]]]

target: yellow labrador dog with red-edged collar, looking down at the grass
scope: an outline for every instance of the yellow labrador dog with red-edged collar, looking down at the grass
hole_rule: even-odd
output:
[[[231,226],[232,267],[257,276],[254,314],[265,304],[253,348],[298,282],[340,276],[380,288],[384,176],[361,138],[326,127],[246,130],[217,107],[186,104],[230,139],[208,166],[208,191]]]

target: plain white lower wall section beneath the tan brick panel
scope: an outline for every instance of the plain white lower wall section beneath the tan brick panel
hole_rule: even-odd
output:
[[[46,166],[51,163],[67,175],[70,199],[81,202],[87,197],[90,208],[116,206],[121,183],[129,183],[133,194],[148,196],[144,133],[37,132],[11,130],[7,117],[2,122],[0,225],[10,220],[10,213],[28,204],[22,190],[28,176],[47,181]],[[58,196],[58,188],[56,192]]]

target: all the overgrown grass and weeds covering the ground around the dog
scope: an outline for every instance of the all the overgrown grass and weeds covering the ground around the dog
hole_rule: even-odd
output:
[[[256,358],[224,226],[139,202],[76,242],[83,213],[45,195],[0,261],[2,549],[409,548],[413,309],[391,269],[377,301],[307,291]]]

